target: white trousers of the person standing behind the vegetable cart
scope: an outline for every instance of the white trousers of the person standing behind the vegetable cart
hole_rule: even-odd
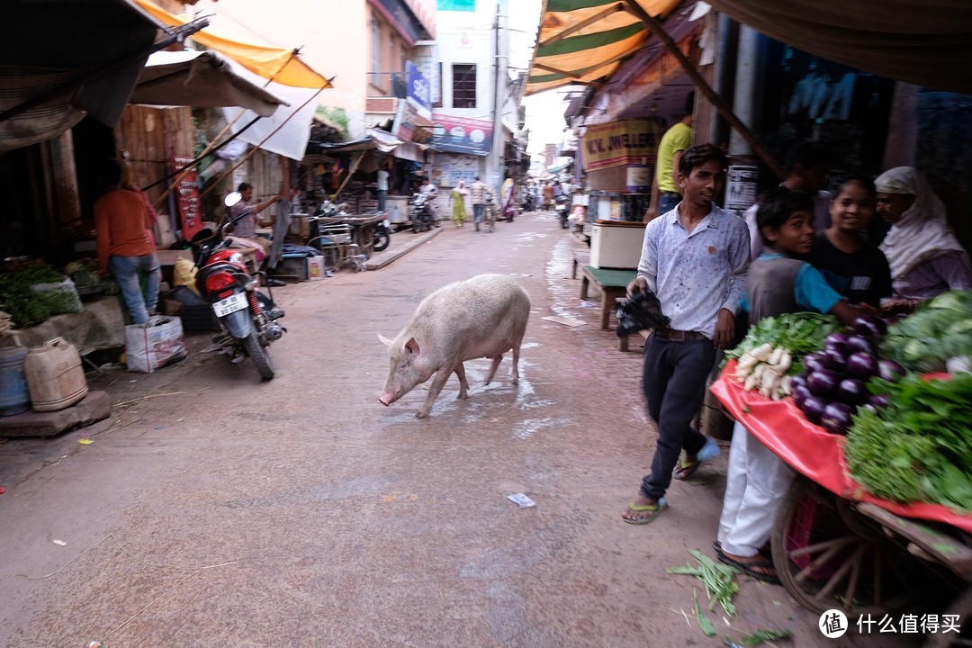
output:
[[[746,557],[759,552],[770,538],[777,507],[793,476],[792,468],[736,423],[719,517],[723,551]]]

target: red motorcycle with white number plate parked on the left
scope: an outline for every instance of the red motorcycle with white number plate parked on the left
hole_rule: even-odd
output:
[[[226,196],[226,207],[235,205],[242,196]],[[277,324],[284,311],[273,303],[272,293],[259,289],[258,272],[251,275],[239,250],[230,250],[226,230],[243,218],[226,220],[219,233],[203,229],[192,237],[192,256],[199,268],[195,285],[209,302],[222,331],[213,336],[213,346],[205,351],[224,354],[235,364],[249,356],[260,372],[260,378],[274,376],[273,361],[267,348],[279,340],[286,328]],[[269,290],[269,289],[267,289]]]

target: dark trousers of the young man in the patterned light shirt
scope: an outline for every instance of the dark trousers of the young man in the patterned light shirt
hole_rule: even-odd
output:
[[[682,448],[695,455],[706,437],[690,424],[706,393],[715,348],[711,340],[674,342],[652,334],[644,343],[642,389],[648,416],[658,426],[651,472],[642,479],[642,495],[658,500],[672,483]]]

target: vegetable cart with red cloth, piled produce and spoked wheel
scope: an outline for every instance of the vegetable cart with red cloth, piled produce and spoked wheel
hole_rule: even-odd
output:
[[[878,360],[874,359],[873,373],[862,379],[869,392],[852,404],[854,414],[843,429],[846,434],[825,429],[834,430],[837,424],[827,415],[818,418],[816,405],[808,406],[807,400],[823,397],[826,392],[827,398],[840,402],[839,392],[821,387],[813,374],[841,373],[816,368],[821,359],[833,366],[841,344],[851,343],[844,380],[856,380],[852,378],[855,373],[866,373],[866,358],[862,358],[866,354],[853,349],[864,342],[851,338],[864,339],[860,331],[872,325],[871,320],[864,322],[861,318],[854,326],[857,332],[843,332],[835,330],[836,324],[828,326],[819,319],[826,316],[783,316],[794,319],[775,324],[777,331],[792,331],[801,316],[813,323],[809,325],[812,331],[815,327],[834,331],[818,332],[818,339],[810,342],[819,345],[818,352],[808,354],[805,347],[794,353],[794,368],[789,375],[788,359],[784,363],[766,359],[768,349],[776,344],[772,340],[774,325],[764,324],[770,318],[760,322],[759,330],[751,329],[735,353],[730,352],[739,359],[726,363],[712,385],[713,394],[739,425],[797,473],[777,509],[770,544],[781,584],[804,607],[816,612],[836,608],[849,614],[946,609],[959,625],[972,618],[972,512],[966,498],[969,475],[960,465],[957,474],[950,472],[951,459],[944,458],[948,449],[964,462],[965,445],[972,442],[968,418],[972,404],[966,397],[972,376],[937,371],[945,366],[945,358],[968,353],[968,347],[956,343],[956,339],[964,334],[962,321],[967,319],[970,307],[972,294],[946,295],[912,316],[934,318],[941,326],[942,337],[949,337],[948,343],[935,351],[935,329],[929,325],[928,338],[921,340],[927,349],[925,357],[907,362],[901,367],[902,374],[879,375]],[[896,355],[897,338],[909,330],[904,324],[907,322],[892,325],[886,333],[876,325],[870,338],[871,355]],[[949,331],[951,335],[947,335]],[[767,340],[769,344],[765,344]],[[743,348],[746,351],[740,352]],[[852,356],[857,358],[851,360]],[[889,363],[882,369],[896,364],[890,359],[881,361]],[[781,370],[760,373],[754,369],[759,364]],[[755,380],[749,379],[750,375],[755,375]],[[815,389],[807,387],[807,376]],[[756,391],[761,382],[762,391]],[[953,401],[954,406],[950,404]],[[906,407],[914,411],[903,413]],[[879,427],[900,431],[893,439],[867,436]],[[860,450],[865,444],[870,444],[869,454]],[[922,454],[924,448],[932,450]],[[883,471],[885,482],[876,482],[875,475],[885,475]],[[895,475],[900,477],[900,484]],[[909,481],[912,484],[905,483]],[[909,490],[913,485],[918,488]],[[909,495],[912,493],[916,495]],[[950,637],[943,636],[932,635],[926,645],[953,645],[948,642]]]

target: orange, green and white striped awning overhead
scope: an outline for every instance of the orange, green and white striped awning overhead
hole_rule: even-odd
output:
[[[544,0],[526,94],[610,76],[649,32],[630,8],[667,16],[681,0]]]

